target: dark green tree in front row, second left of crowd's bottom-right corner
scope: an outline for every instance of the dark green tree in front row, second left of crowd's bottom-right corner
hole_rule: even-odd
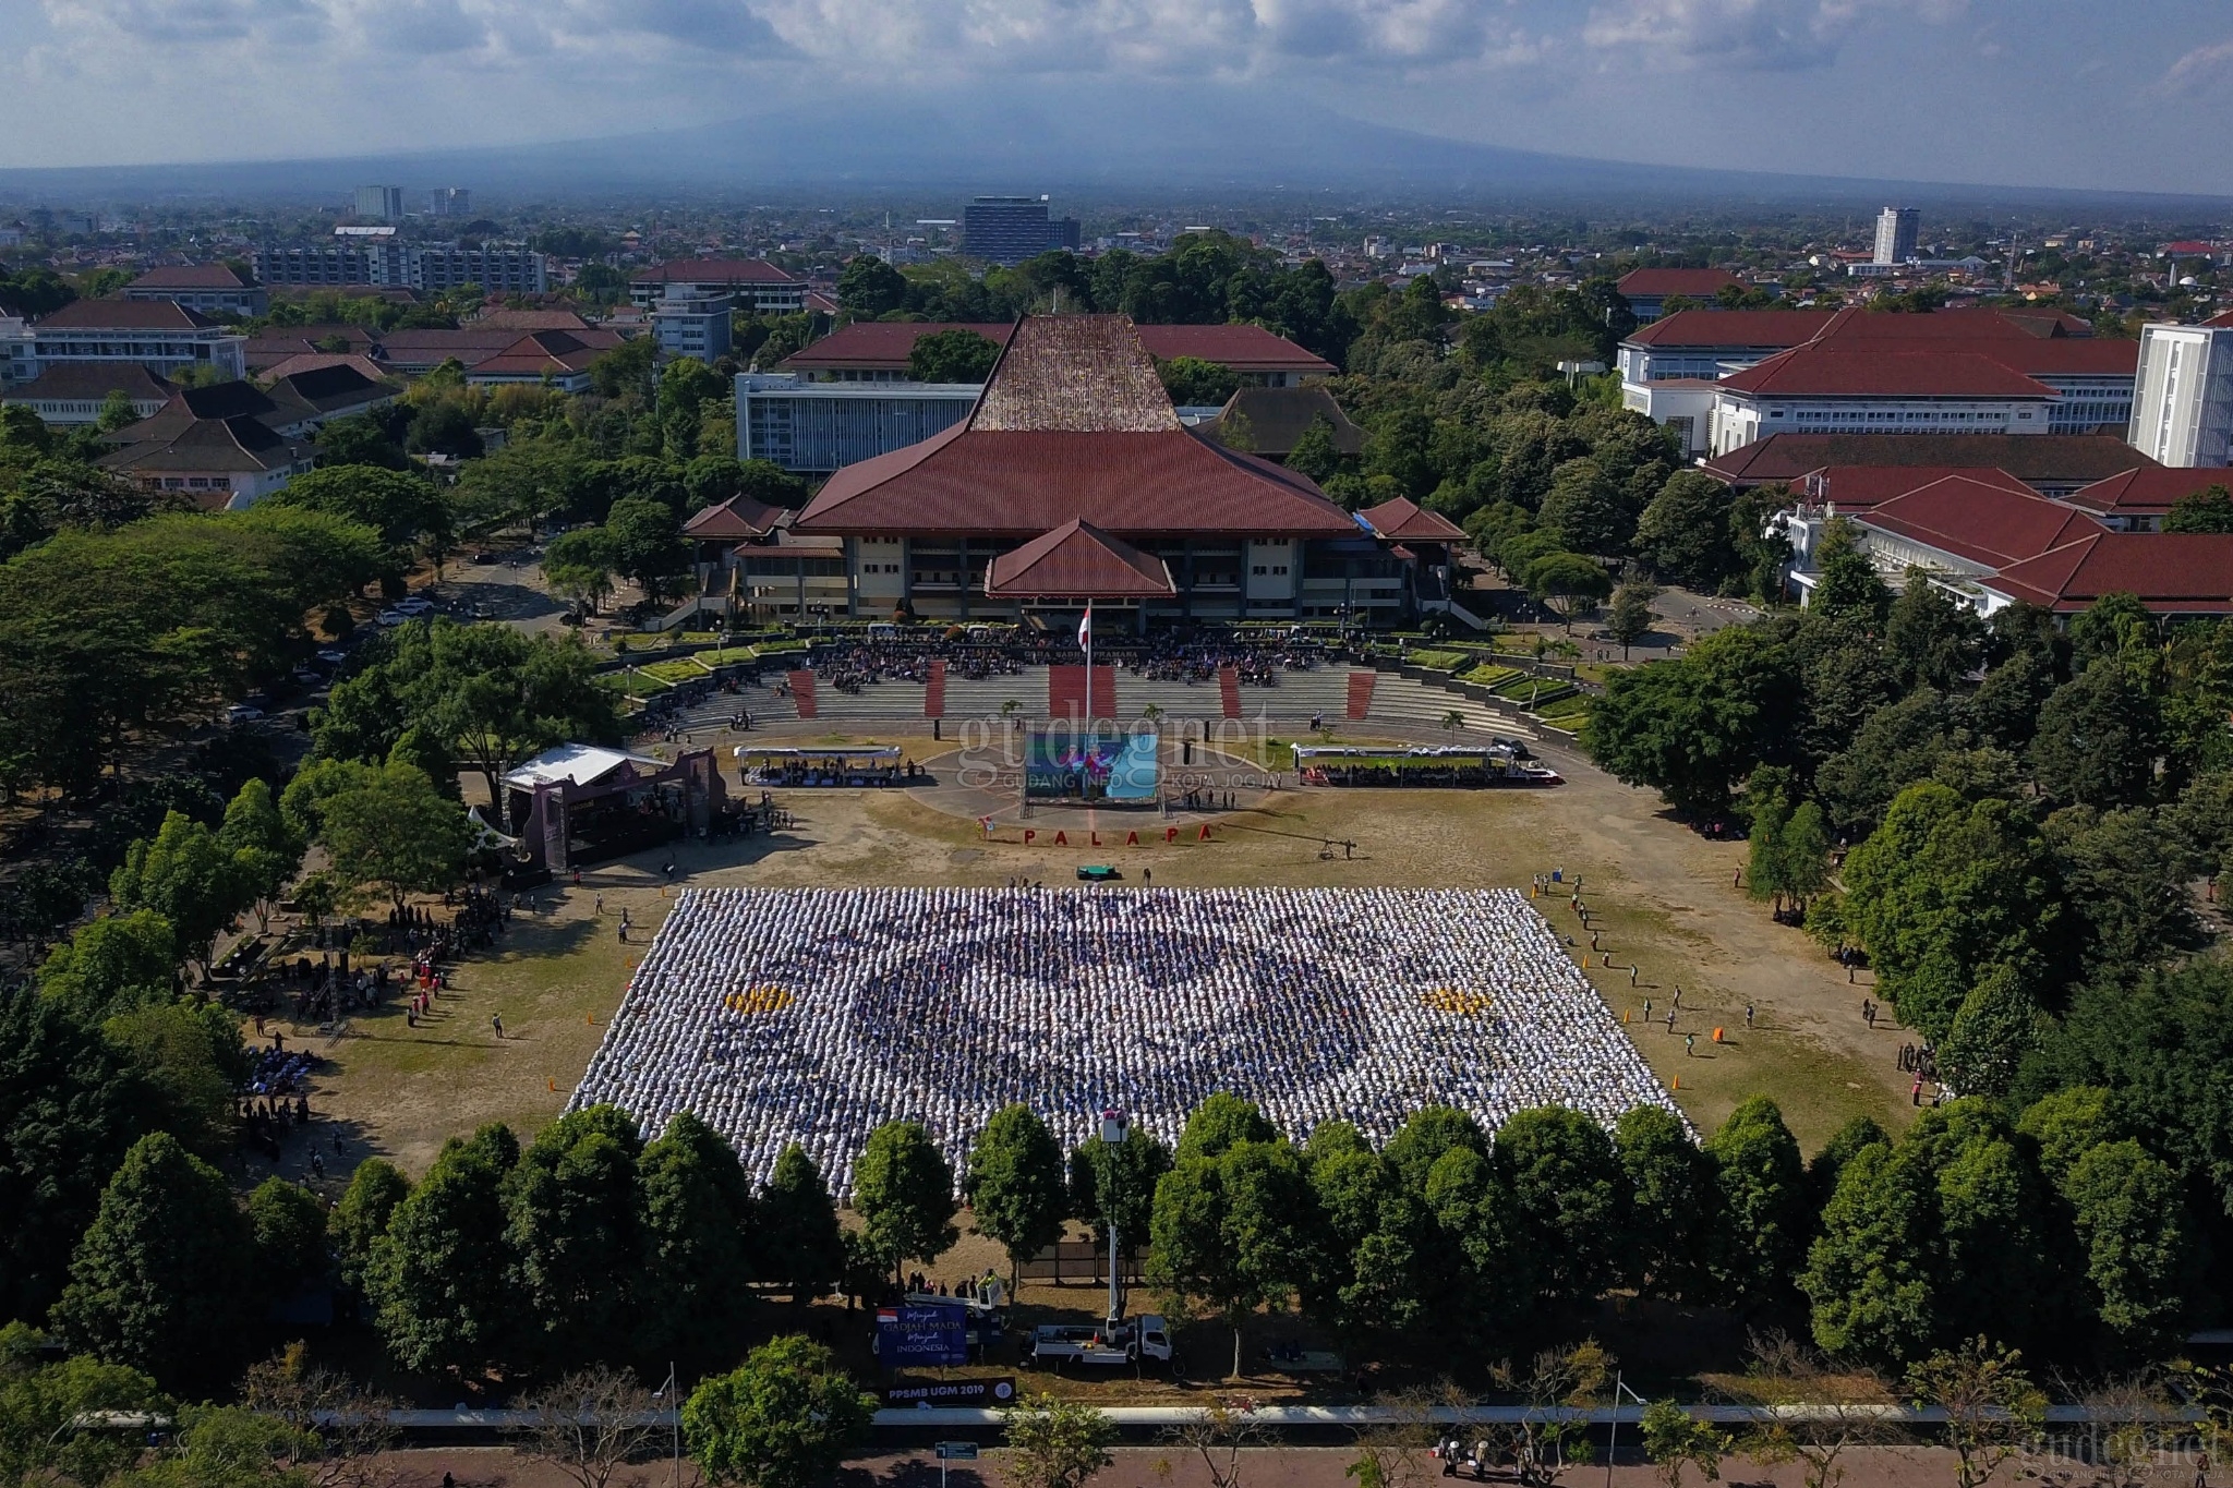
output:
[[[1536,1298],[1583,1307],[1621,1274],[1635,1198],[1606,1129],[1581,1111],[1534,1107],[1496,1131],[1521,1231],[1536,1252]]]

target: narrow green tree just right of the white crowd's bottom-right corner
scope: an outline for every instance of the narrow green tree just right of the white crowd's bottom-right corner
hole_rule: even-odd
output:
[[[1726,1214],[1715,1256],[1722,1289],[1744,1310],[1777,1310],[1813,1231],[1800,1144],[1775,1102],[1753,1095],[1706,1140],[1706,1156]]]

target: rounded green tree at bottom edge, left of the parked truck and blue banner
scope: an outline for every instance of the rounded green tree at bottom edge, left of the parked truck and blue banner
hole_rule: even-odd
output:
[[[820,1488],[869,1439],[873,1417],[875,1399],[826,1347],[788,1334],[701,1381],[683,1403],[683,1439],[708,1481]]]

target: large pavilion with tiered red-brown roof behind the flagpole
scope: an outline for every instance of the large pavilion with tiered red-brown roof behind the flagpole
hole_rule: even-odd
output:
[[[1418,558],[1309,477],[1183,424],[1121,315],[1016,326],[969,417],[837,471],[786,533],[826,540],[775,609],[1018,620],[1094,598],[1103,631],[1188,620],[1393,622]],[[777,560],[768,553],[766,560]],[[795,567],[795,564],[793,564]],[[799,580],[806,582],[806,580]]]

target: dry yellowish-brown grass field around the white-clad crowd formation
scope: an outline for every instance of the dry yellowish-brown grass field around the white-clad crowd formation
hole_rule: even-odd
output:
[[[824,734],[813,743],[857,743]],[[933,756],[929,738],[889,738]],[[1898,1031],[1867,1033],[1844,1017],[1860,988],[1798,933],[1728,888],[1740,846],[1704,843],[1637,810],[1635,792],[1576,779],[1534,792],[1277,792],[1233,812],[1210,843],[1154,841],[1132,850],[1052,848],[1043,832],[980,828],[907,792],[790,792],[797,830],[721,848],[683,846],[677,886],[1065,883],[1079,861],[1114,859],[1128,877],[1154,868],[1159,886],[1518,886],[1536,872],[1581,875],[1603,953],[1565,897],[1539,908],[1699,1129],[1740,1100],[1773,1095],[1806,1147],[1842,1120],[1896,1122],[1905,1084],[1891,1071]],[[1608,808],[1626,805],[1626,814]],[[1188,834],[1190,837],[1190,834]],[[1637,841],[1646,850],[1639,850]],[[1344,857],[1342,843],[1355,843]],[[556,1115],[621,999],[643,941],[670,899],[665,854],[590,870],[554,886],[514,917],[498,955],[464,962],[435,1020],[406,1028],[402,1013],[353,1022],[339,1037],[297,1028],[330,1060],[317,1104],[346,1122],[362,1151],[422,1169],[442,1138],[485,1120],[534,1133]],[[621,944],[627,912],[634,944]],[[1606,966],[1610,955],[1612,966]],[[1630,966],[1635,973],[1630,973]],[[1677,1033],[1641,1024],[1646,997],[1664,1020],[1681,988]],[[1755,1008],[1746,1028],[1744,1008]],[[502,1017],[498,1040],[491,1017]],[[1722,1028],[1722,1042],[1713,1031]],[[1686,1051],[1684,1033],[1697,1033]],[[1880,1055],[1878,1055],[1880,1049]]]

